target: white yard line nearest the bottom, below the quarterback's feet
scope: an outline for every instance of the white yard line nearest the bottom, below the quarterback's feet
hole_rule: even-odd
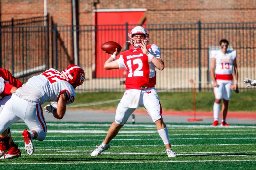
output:
[[[45,164],[134,164],[134,163],[174,163],[174,162],[254,162],[256,159],[244,160],[170,160],[170,161],[128,161],[128,162],[46,162],[46,163],[29,163],[29,165],[45,165]],[[28,165],[28,163],[0,163],[0,165]]]

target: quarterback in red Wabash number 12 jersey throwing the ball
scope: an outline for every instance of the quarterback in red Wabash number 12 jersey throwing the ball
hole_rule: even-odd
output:
[[[162,108],[155,89],[156,71],[164,69],[164,61],[161,59],[160,49],[155,45],[148,45],[148,32],[141,26],[136,26],[129,33],[130,44],[134,47],[121,53],[120,58],[116,52],[105,62],[104,68],[126,68],[126,91],[117,106],[115,121],[111,124],[105,140],[96,148],[91,156],[98,156],[110,147],[110,141],[117,135],[129,116],[139,106],[145,107],[156,129],[162,138],[168,157],[176,157],[172,151],[168,130],[162,118]]]

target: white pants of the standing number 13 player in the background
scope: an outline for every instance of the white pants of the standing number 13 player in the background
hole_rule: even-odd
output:
[[[216,80],[218,87],[214,87],[215,99],[230,100],[231,92],[230,86],[233,85],[232,80]]]

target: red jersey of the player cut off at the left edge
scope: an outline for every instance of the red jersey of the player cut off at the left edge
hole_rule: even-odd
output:
[[[13,77],[12,74],[6,69],[0,68],[0,77],[2,77],[5,81],[4,91],[0,94],[2,97],[10,95],[10,91],[13,86],[19,88],[23,85],[23,83],[21,83],[17,78]]]

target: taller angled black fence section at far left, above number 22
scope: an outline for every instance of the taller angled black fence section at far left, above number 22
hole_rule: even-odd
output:
[[[22,82],[48,68],[73,63],[57,25],[48,15],[1,22],[0,67]]]

